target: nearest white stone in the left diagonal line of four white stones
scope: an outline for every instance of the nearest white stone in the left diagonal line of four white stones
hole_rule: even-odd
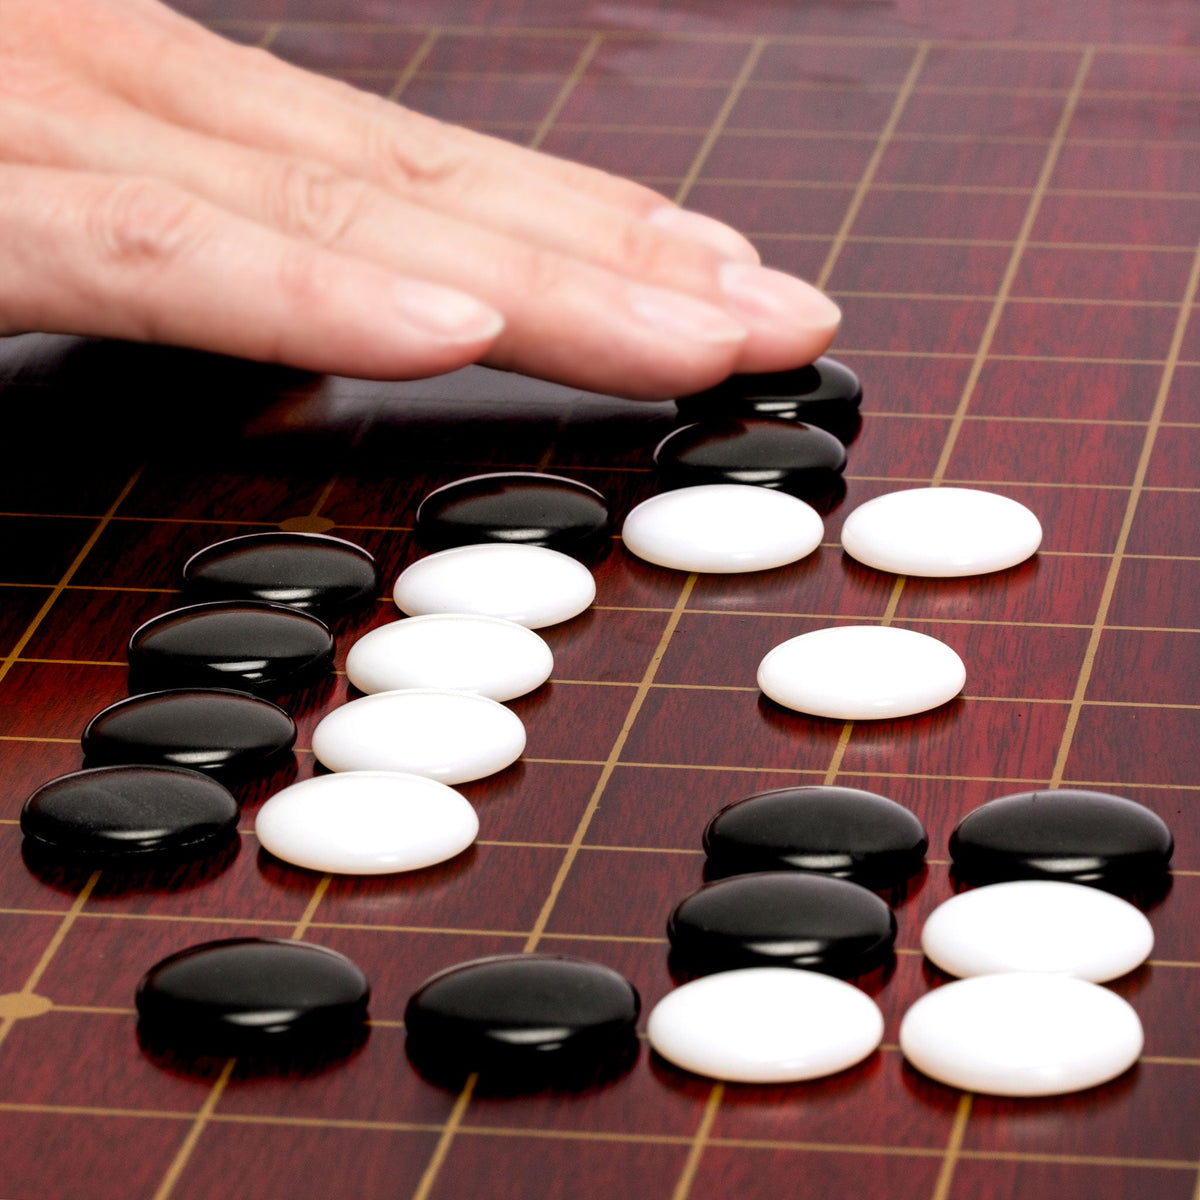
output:
[[[276,792],[254,833],[276,858],[332,875],[413,871],[461,854],[479,817],[452,787],[421,775],[348,770]]]

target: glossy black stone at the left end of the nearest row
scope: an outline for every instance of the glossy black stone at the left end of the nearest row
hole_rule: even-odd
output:
[[[343,1037],[365,1020],[370,991],[336,950],[246,937],[163,959],[138,984],[137,1007],[154,1040],[239,1054]]]

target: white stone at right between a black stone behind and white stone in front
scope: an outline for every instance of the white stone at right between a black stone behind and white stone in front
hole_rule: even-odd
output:
[[[1133,971],[1153,946],[1150,922],[1127,900],[1052,880],[964,892],[935,908],[920,935],[949,974],[1049,971],[1092,983]]]

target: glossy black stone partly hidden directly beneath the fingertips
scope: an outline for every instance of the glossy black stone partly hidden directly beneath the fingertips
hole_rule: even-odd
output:
[[[844,437],[857,425],[863,388],[850,367],[817,359],[794,371],[730,376],[715,388],[676,401],[688,420],[722,416],[772,416],[806,421]]]

